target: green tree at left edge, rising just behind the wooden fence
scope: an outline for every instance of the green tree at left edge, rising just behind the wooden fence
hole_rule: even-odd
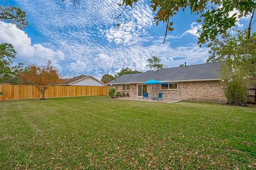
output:
[[[12,66],[15,54],[12,44],[0,44],[0,83],[18,81],[18,75],[22,70],[23,64],[19,63],[18,66]]]

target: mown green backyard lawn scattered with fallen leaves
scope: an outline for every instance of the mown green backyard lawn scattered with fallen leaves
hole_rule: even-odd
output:
[[[256,168],[255,108],[107,96],[0,107],[0,169]]]

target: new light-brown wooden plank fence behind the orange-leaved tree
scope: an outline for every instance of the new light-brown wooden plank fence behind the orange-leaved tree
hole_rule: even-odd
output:
[[[40,99],[41,94],[31,85],[0,85],[0,100]],[[53,86],[45,91],[45,98],[108,95],[108,86]]]

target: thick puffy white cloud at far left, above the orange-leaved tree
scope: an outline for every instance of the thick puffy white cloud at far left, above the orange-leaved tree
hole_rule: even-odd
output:
[[[52,60],[57,64],[65,59],[63,52],[53,51],[41,44],[31,44],[31,39],[25,33],[11,23],[0,21],[0,43],[10,43],[14,46],[17,56],[31,63],[44,64]]]

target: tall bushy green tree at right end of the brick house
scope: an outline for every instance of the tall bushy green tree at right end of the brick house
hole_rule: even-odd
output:
[[[249,39],[247,35],[246,31],[235,37],[225,34],[208,44],[207,62],[225,61],[220,77],[229,104],[245,104],[248,87],[256,84],[256,33]]]

